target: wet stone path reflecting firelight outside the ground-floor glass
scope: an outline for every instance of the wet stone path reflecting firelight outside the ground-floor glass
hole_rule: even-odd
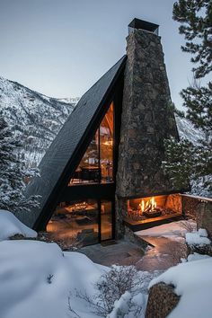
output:
[[[125,241],[119,241],[109,246],[96,244],[86,246],[79,252],[83,252],[94,263],[104,266],[135,265],[139,270],[155,271],[169,269],[177,264],[181,257],[184,244],[165,237],[142,237],[148,243],[154,245],[145,255],[137,245]]]

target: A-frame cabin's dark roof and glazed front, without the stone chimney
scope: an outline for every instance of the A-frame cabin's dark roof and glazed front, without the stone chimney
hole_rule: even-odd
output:
[[[66,236],[66,231],[70,232],[66,211],[73,209],[75,221],[69,220],[75,223],[71,226],[73,235],[83,232],[86,236],[87,232],[88,243],[114,238],[115,175],[126,59],[122,57],[84,93],[42,159],[40,177],[27,188],[27,195],[40,196],[40,207],[25,216],[25,223],[34,229],[45,230],[48,226],[55,230],[58,226]]]

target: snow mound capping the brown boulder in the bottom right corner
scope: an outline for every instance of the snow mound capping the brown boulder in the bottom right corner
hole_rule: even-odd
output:
[[[212,258],[181,263],[165,271],[150,283],[173,285],[181,296],[179,304],[168,318],[211,318],[212,316]]]

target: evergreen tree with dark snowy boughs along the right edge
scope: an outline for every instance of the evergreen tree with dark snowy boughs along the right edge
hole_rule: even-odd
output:
[[[173,5],[173,19],[181,23],[179,31],[186,43],[182,51],[192,54],[194,84],[181,91],[185,117],[204,132],[197,145],[189,140],[166,142],[163,168],[175,186],[183,188],[196,181],[212,191],[212,83],[201,86],[197,79],[212,70],[212,2],[211,0],[179,0]]]

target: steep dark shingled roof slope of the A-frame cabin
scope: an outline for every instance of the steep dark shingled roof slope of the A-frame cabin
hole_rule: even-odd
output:
[[[91,123],[99,114],[104,105],[106,96],[117,83],[119,75],[125,66],[127,57],[122,57],[118,63],[96,82],[75,106],[64,126],[60,129],[49,149],[40,162],[40,177],[35,178],[28,185],[27,197],[40,195],[40,208],[34,208],[31,214],[21,216],[22,222],[34,226],[40,213],[44,210],[49,197],[61,182],[61,178],[75,162],[79,146],[84,142],[84,137],[91,128]],[[75,163],[74,163],[75,164]],[[70,171],[70,169],[69,169]],[[68,176],[69,178],[71,175]],[[55,198],[57,200],[57,198]]]

